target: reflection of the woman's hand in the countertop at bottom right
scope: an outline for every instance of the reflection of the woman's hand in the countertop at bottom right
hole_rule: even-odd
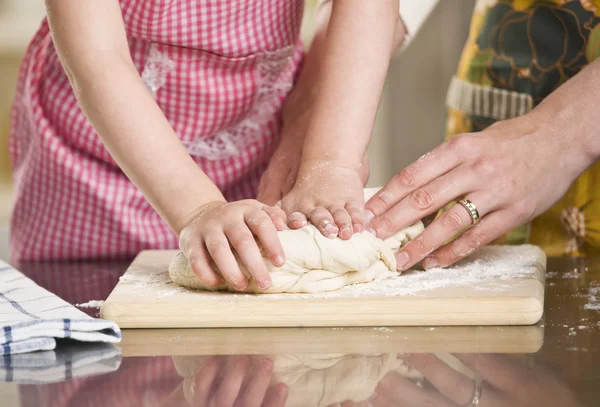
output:
[[[525,366],[501,355],[465,354],[456,357],[481,377],[480,407],[582,406],[568,386],[544,369]],[[413,354],[407,361],[423,374],[428,386],[419,387],[388,373],[375,390],[371,405],[466,406],[475,395],[475,381],[431,354]]]

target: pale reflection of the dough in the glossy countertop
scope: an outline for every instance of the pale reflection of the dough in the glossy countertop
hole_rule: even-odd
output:
[[[186,378],[185,397],[194,399],[196,380],[207,357],[173,357],[175,368]],[[273,360],[271,385],[288,385],[286,407],[326,407],[344,401],[360,402],[373,395],[389,372],[410,380],[423,378],[394,353],[277,355]],[[249,372],[251,373],[251,372]]]

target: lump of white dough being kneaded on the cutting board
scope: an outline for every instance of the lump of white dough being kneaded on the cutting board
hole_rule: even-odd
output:
[[[365,190],[369,196],[373,190]],[[397,275],[395,252],[423,231],[419,221],[383,241],[369,232],[356,233],[349,240],[328,239],[313,225],[299,230],[283,230],[279,239],[286,263],[275,267],[264,256],[272,284],[261,290],[244,264],[240,269],[249,277],[245,290],[252,293],[314,293],[339,290],[350,284],[365,283]],[[237,258],[237,256],[236,256]],[[214,266],[214,264],[213,264]],[[169,265],[169,276],[184,287],[207,289],[192,271],[183,253]],[[235,291],[228,283],[217,290]]]

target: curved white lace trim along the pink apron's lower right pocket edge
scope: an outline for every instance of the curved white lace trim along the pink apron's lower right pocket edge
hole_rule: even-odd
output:
[[[258,91],[252,108],[244,119],[234,127],[218,131],[207,137],[184,142],[188,153],[209,160],[222,160],[240,154],[256,142],[266,125],[273,120],[280,98],[292,88],[291,69],[295,46],[290,45],[277,51],[265,52],[259,57],[257,66]]]

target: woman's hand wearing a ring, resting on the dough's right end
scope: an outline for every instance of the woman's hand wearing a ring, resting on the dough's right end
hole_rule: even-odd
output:
[[[455,205],[434,220],[397,254],[400,269],[424,258],[426,269],[451,265],[564,195],[585,163],[591,164],[568,137],[542,123],[531,115],[458,135],[400,171],[369,200],[366,208],[375,217],[370,227],[381,238],[454,200],[477,207],[481,221],[448,244],[471,225],[469,213]]]

